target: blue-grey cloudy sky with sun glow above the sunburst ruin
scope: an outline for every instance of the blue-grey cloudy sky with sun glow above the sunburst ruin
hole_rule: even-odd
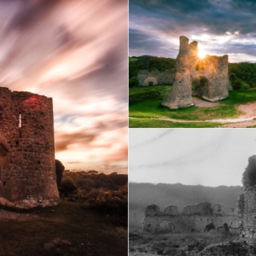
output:
[[[179,37],[208,55],[256,62],[255,0],[130,0],[129,55],[176,58]]]

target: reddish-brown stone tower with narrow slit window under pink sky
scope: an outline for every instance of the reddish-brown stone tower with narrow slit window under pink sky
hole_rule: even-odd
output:
[[[0,87],[0,204],[58,202],[52,99]]]

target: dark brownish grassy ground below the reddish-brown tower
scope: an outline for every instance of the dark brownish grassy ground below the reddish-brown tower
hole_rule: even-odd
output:
[[[71,202],[36,214],[27,221],[0,219],[0,255],[127,255],[126,217]]]

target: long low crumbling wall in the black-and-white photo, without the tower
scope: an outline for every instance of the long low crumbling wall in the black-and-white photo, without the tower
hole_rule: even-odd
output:
[[[143,232],[151,234],[183,233],[208,231],[208,227],[218,231],[239,233],[241,218],[237,210],[220,204],[200,203],[183,207],[169,206],[160,211],[160,207],[151,205],[146,208],[143,219]]]

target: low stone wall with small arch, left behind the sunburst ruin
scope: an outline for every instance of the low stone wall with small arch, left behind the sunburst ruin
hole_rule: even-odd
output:
[[[139,86],[151,86],[155,84],[172,84],[175,76],[175,69],[166,70],[160,73],[158,70],[148,72],[141,70],[138,75]]]

